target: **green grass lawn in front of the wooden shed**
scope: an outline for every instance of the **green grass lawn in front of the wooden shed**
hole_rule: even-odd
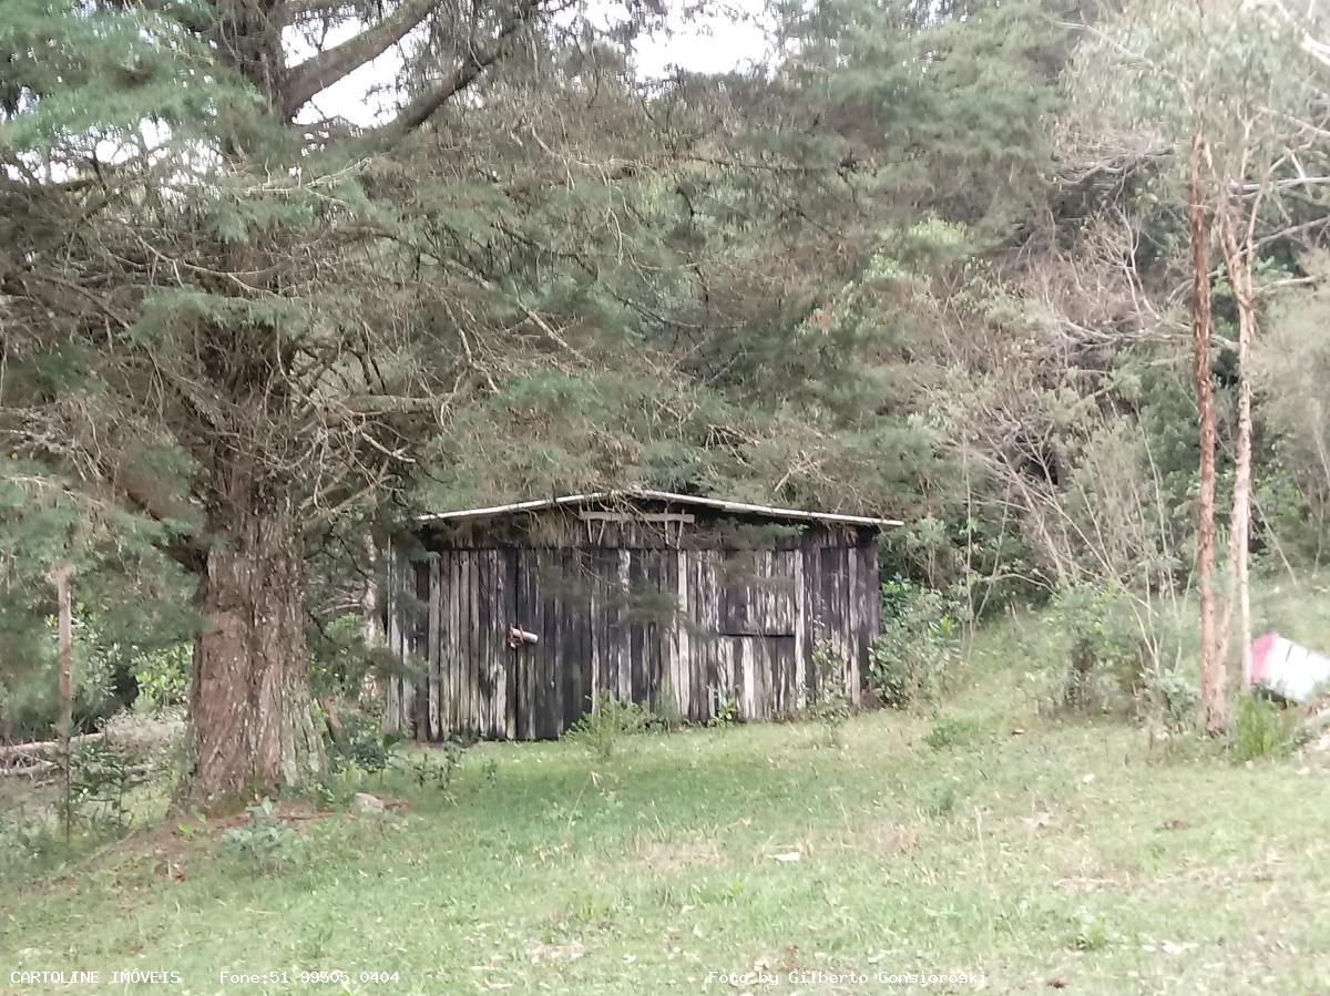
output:
[[[481,745],[451,799],[392,775],[367,787],[408,810],[299,820],[309,856],[277,875],[173,822],[11,883],[0,992],[1330,992],[1322,755],[1161,754],[998,706],[999,684],[942,723],[854,718],[838,749],[814,725],[637,737],[609,762]],[[302,984],[318,969],[350,983]],[[775,981],[712,976],[758,971]],[[979,980],[878,981],[911,972]]]

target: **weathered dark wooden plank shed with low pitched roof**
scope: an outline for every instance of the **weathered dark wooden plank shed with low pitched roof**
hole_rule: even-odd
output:
[[[422,516],[390,557],[387,636],[411,677],[390,682],[387,726],[552,738],[601,691],[766,719],[815,701],[818,662],[858,702],[890,525],[661,491]]]

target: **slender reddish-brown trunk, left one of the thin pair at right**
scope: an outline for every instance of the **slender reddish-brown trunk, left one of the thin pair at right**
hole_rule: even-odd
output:
[[[1214,629],[1214,388],[1210,383],[1210,275],[1209,233],[1201,201],[1201,157],[1205,137],[1197,129],[1192,136],[1188,184],[1188,227],[1192,237],[1192,379],[1196,386],[1196,410],[1200,461],[1200,500],[1197,503],[1196,574],[1201,602],[1201,707],[1205,731],[1212,737],[1224,733],[1226,709],[1224,699],[1224,662],[1218,657]]]

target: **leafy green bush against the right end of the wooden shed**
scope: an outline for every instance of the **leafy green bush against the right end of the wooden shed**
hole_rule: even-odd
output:
[[[868,677],[892,709],[934,705],[960,660],[960,624],[940,592],[894,578],[882,584],[882,633],[868,649]]]

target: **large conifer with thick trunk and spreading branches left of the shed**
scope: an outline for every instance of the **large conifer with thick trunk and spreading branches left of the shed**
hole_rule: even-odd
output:
[[[434,408],[392,355],[407,302],[374,314],[402,283],[359,164],[479,86],[555,5],[16,7],[0,35],[5,437],[161,523],[198,577],[192,791],[303,781],[322,765],[303,529],[392,459],[394,419]],[[313,24],[358,33],[290,60],[283,31]],[[297,124],[399,43],[419,78],[391,121]]]

